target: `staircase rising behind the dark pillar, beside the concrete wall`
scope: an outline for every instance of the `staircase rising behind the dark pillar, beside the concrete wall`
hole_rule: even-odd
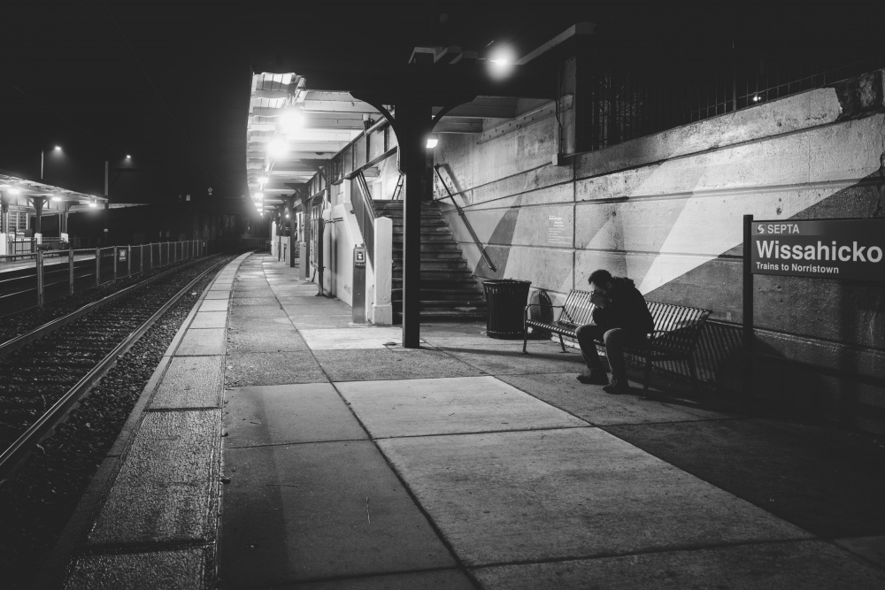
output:
[[[375,216],[393,221],[393,314],[403,318],[403,202],[374,201]],[[421,205],[421,321],[486,318],[482,288],[461,255],[436,203]]]

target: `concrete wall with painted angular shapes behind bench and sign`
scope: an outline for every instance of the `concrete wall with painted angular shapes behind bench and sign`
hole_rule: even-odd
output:
[[[531,280],[563,303],[596,268],[647,299],[712,310],[702,379],[740,390],[743,215],[885,217],[882,72],[575,155],[556,119],[443,135],[435,198],[481,279]],[[560,120],[567,120],[566,111]],[[757,392],[885,433],[885,286],[756,275]]]

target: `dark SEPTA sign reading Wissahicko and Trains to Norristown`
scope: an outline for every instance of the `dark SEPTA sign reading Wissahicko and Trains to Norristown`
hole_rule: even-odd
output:
[[[885,219],[752,222],[753,274],[885,282]]]

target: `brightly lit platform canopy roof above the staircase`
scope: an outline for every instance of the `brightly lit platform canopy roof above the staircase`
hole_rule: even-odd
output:
[[[518,96],[546,96],[546,102],[556,96],[555,75],[540,92],[535,82],[513,91],[490,80],[482,61],[475,51],[455,46],[417,47],[408,64],[393,67],[311,61],[296,72],[253,74],[246,140],[252,202],[262,213],[285,204],[298,185],[383,118],[373,104],[383,104],[393,114],[391,93],[426,88],[433,96],[432,114],[445,110],[435,124],[438,134],[480,134],[527,110]],[[371,96],[366,100],[372,103],[358,96]],[[445,108],[452,96],[457,96],[457,106]]]

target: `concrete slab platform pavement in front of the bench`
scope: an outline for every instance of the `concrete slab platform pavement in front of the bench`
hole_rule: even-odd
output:
[[[607,395],[477,324],[403,349],[316,293],[219,275],[68,587],[885,587],[874,441]]]

